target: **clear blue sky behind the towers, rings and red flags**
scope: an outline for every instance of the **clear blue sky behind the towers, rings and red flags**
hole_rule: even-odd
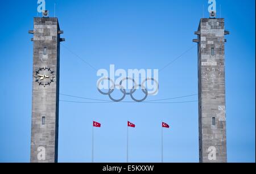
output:
[[[34,1],[1,1],[0,162],[29,162],[32,99]],[[208,16],[207,0],[46,1],[66,41],[62,43],[96,69],[161,69],[196,43],[193,34]],[[226,36],[226,116],[228,162],[255,162],[255,1],[217,1],[230,31]],[[217,15],[220,15],[218,12]],[[61,46],[60,92],[108,100],[96,88],[98,77]],[[197,94],[197,49],[159,73],[160,91],[148,100]],[[118,94],[117,94],[118,95]],[[61,100],[88,101],[60,96]],[[126,101],[130,101],[126,97]],[[197,100],[197,96],[170,101]],[[130,162],[160,162],[161,121],[165,162],[198,162],[197,103],[60,102],[59,162],[90,162],[92,120],[95,162],[126,161],[126,124]]]

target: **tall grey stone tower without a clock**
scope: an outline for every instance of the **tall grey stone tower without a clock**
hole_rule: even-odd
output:
[[[213,13],[213,16],[215,14]],[[198,43],[199,156],[201,163],[225,163],[226,102],[222,18],[203,18],[195,32]]]

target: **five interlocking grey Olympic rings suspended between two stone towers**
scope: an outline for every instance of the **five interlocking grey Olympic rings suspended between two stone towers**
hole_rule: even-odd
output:
[[[108,91],[108,92],[102,92],[102,91],[100,90],[100,88],[99,88],[100,83],[101,83],[103,80],[109,80],[109,82],[112,83],[112,86],[109,88],[109,91]],[[134,83],[133,88],[130,90],[130,92],[126,92],[125,87],[122,86],[122,83],[123,83],[125,80],[132,80],[133,83]],[[144,83],[146,83],[147,80],[152,80],[153,82],[156,83],[156,87],[157,87],[157,88],[156,88],[156,90],[155,90],[154,92],[148,92],[147,88],[144,86]],[[122,92],[123,96],[121,97],[121,99],[114,99],[114,98],[111,96],[112,92],[114,92],[115,87],[119,87],[119,90]],[[135,97],[133,96],[134,92],[137,90],[138,87],[141,87],[141,88],[142,88],[142,89],[141,89],[142,92],[145,94],[145,96],[144,96],[142,99],[140,99],[140,100],[139,100],[139,99],[135,99]],[[101,78],[100,80],[98,80],[97,88],[98,88],[98,91],[99,91],[101,94],[103,94],[103,95],[108,95],[109,98],[110,98],[110,100],[112,100],[112,101],[114,101],[114,102],[122,101],[123,99],[125,99],[125,96],[126,96],[126,95],[130,95],[130,96],[131,96],[131,99],[133,99],[133,100],[136,101],[136,102],[142,102],[142,101],[144,101],[144,100],[147,99],[147,96],[148,96],[148,95],[155,95],[156,92],[158,92],[158,90],[159,90],[159,83],[158,83],[158,81],[157,81],[156,79],[154,79],[154,78],[146,78],[146,79],[143,80],[142,84],[137,84],[133,78],[126,77],[126,78],[123,78],[123,79],[119,82],[119,84],[115,84],[112,79],[106,77],[106,78]]]

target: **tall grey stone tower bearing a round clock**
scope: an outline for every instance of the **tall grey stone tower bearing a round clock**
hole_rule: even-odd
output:
[[[32,86],[32,163],[57,162],[60,38],[57,18],[34,18]]]

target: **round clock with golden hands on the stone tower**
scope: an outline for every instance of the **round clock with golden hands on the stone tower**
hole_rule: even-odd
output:
[[[35,73],[35,81],[38,82],[39,86],[42,85],[44,87],[54,82],[53,79],[56,77],[54,71],[47,67],[40,68]]]

